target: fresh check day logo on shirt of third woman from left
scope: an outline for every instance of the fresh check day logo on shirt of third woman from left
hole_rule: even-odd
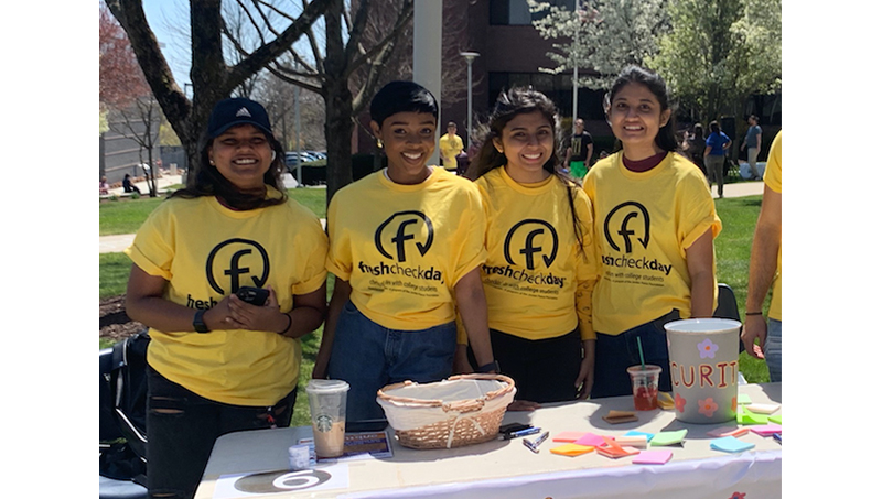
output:
[[[548,271],[559,248],[560,239],[551,224],[535,218],[521,220],[505,236],[503,253],[508,264],[484,265],[486,283],[521,294],[547,294],[548,286],[563,288],[566,279]]]

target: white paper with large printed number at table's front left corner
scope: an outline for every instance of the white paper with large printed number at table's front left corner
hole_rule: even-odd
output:
[[[291,471],[245,473],[220,475],[214,486],[214,499],[238,499],[301,490],[320,491],[349,487],[349,466],[334,464],[313,469]]]

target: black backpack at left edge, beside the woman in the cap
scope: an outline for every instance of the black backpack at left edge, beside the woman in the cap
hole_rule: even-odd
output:
[[[99,352],[99,474],[140,482],[147,475],[147,347],[142,330]],[[125,441],[122,441],[125,440]]]

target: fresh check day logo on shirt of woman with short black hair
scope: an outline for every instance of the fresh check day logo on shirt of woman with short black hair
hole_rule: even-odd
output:
[[[380,261],[359,261],[357,269],[378,279],[370,280],[373,291],[404,291],[437,296],[437,285],[443,284],[441,271],[433,265],[413,264],[424,257],[434,243],[434,226],[422,211],[398,211],[380,224],[374,232],[374,246]]]

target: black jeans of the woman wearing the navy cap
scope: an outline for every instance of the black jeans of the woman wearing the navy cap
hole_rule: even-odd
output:
[[[151,498],[192,498],[218,436],[286,427],[297,388],[273,406],[230,405],[200,397],[148,366],[147,488]]]

